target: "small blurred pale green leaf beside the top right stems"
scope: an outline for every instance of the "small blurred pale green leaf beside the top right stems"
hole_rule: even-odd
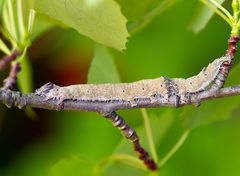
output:
[[[218,0],[218,3],[222,4],[224,1],[225,0]],[[212,9],[202,3],[199,3],[193,18],[189,23],[189,29],[194,33],[199,33],[206,27],[213,15],[214,11]]]

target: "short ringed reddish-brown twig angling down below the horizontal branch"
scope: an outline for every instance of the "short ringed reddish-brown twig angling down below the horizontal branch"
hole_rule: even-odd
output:
[[[139,159],[143,160],[146,167],[153,171],[156,170],[157,169],[156,163],[150,157],[148,152],[139,143],[139,137],[136,131],[132,127],[130,127],[129,124],[125,122],[125,120],[115,111],[105,114],[104,116],[111,120],[113,125],[116,126],[121,131],[122,135],[125,138],[132,141],[134,150],[139,153]]]

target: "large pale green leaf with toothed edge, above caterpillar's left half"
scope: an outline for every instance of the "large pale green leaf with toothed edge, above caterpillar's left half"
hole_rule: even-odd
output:
[[[126,18],[113,0],[35,0],[35,9],[117,50],[125,49]]]

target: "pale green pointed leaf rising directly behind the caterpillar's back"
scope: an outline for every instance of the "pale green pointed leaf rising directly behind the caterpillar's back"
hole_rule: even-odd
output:
[[[88,83],[118,83],[120,78],[108,49],[96,44],[94,58],[88,72]]]

